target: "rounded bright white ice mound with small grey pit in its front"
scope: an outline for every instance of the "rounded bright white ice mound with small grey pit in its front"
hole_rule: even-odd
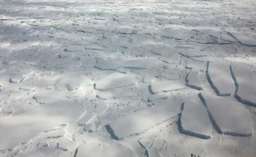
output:
[[[64,75],[56,80],[54,86],[57,90],[77,90],[82,86],[87,86],[92,84],[92,80],[79,74],[79,73],[70,73],[69,75]]]

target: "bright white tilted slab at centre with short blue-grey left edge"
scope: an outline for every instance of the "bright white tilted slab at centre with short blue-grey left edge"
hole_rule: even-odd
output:
[[[133,74],[112,73],[106,78],[95,82],[95,89],[113,89],[134,85],[137,78]]]

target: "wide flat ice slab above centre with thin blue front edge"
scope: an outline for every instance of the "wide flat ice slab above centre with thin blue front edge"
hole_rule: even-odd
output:
[[[117,68],[130,68],[130,69],[146,69],[149,66],[157,64],[157,60],[149,58],[112,58],[104,60],[95,65],[96,68],[102,70],[115,70]]]

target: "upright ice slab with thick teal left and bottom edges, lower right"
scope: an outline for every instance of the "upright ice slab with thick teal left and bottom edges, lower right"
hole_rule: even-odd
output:
[[[206,107],[201,103],[184,102],[179,115],[178,130],[185,135],[209,139],[211,137],[211,121]]]

